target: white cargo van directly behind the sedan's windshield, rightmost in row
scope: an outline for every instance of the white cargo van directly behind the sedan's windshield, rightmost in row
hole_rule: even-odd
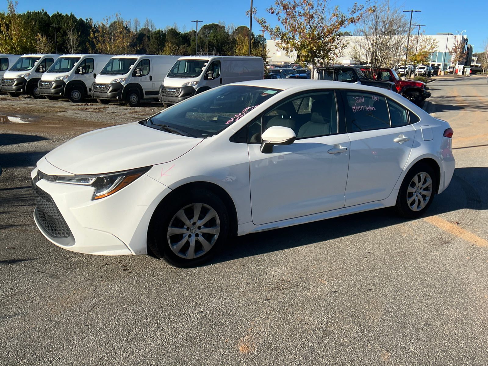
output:
[[[159,101],[167,106],[216,86],[263,77],[261,57],[184,56],[164,78],[159,88]]]

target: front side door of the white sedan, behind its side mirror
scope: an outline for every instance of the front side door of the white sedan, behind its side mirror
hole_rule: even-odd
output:
[[[341,114],[342,116],[342,114]],[[333,90],[302,94],[272,108],[248,128],[254,224],[344,207],[349,139]],[[270,126],[293,129],[297,140],[260,151]],[[341,133],[342,132],[342,133]]]

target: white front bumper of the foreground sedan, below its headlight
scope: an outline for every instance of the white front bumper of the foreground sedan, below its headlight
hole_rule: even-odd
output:
[[[37,172],[38,168],[32,171],[33,180]],[[100,255],[146,254],[149,221],[157,204],[171,191],[145,174],[120,191],[95,201],[91,200],[90,186],[46,179],[33,184],[38,194],[52,201],[47,209],[36,208],[34,213],[41,233],[64,249]],[[47,221],[40,217],[41,210],[48,211]],[[49,225],[53,220],[58,226]]]

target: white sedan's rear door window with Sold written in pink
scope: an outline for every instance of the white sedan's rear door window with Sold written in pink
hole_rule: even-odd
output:
[[[346,91],[344,97],[348,132],[390,127],[388,106],[382,95]]]

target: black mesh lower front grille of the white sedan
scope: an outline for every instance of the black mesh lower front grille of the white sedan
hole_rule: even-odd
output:
[[[37,207],[35,215],[44,230],[54,238],[67,238],[71,235],[68,225],[50,195],[32,182],[32,192]]]

